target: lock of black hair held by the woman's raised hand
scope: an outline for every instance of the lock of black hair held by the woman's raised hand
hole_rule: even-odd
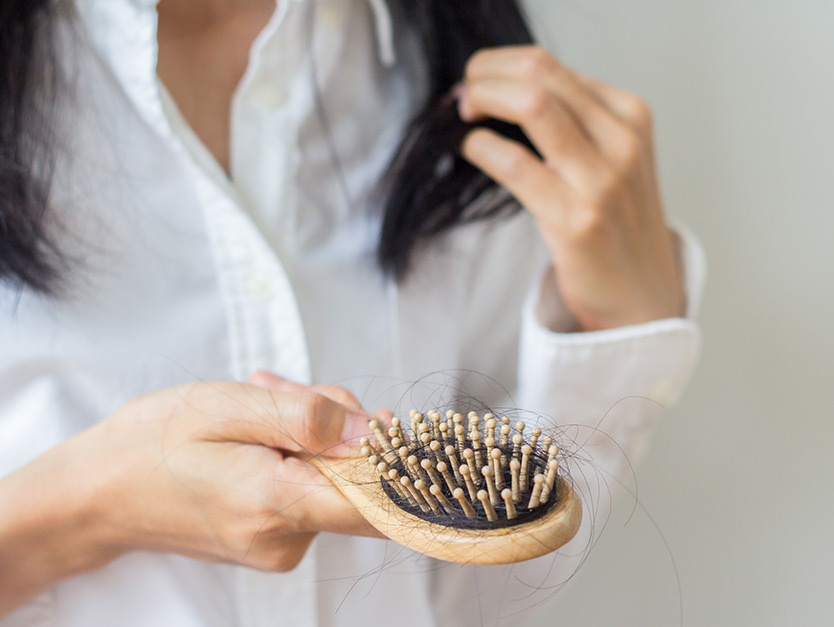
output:
[[[382,179],[383,219],[377,258],[402,280],[420,245],[467,222],[510,215],[518,203],[463,159],[459,147],[474,125],[458,117],[450,94],[481,48],[527,44],[532,36],[516,0],[405,0],[428,62],[429,99],[406,129]],[[480,124],[530,143],[515,126]]]

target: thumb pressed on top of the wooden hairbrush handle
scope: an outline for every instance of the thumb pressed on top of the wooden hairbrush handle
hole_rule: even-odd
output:
[[[349,455],[368,435],[371,414],[311,391],[274,391],[242,383],[177,389],[211,441],[262,444],[291,452]]]

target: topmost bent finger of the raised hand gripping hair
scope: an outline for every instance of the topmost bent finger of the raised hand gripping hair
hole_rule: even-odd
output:
[[[536,46],[515,46],[476,54],[467,66],[467,80],[513,80],[552,93],[575,117],[583,131],[607,157],[619,161],[623,144],[637,130],[625,124],[617,108],[579,75]],[[599,83],[599,85],[602,85]],[[622,92],[624,93],[624,92]],[[623,105],[625,106],[625,105]]]

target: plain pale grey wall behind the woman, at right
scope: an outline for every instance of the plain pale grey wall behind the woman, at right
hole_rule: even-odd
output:
[[[707,251],[703,360],[548,625],[834,625],[834,3],[531,0],[643,96]],[[661,535],[662,532],[662,535]],[[665,541],[664,541],[665,538]],[[543,623],[545,624],[545,623]]]

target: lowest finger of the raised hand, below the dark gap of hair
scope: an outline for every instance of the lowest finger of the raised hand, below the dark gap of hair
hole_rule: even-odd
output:
[[[572,190],[526,147],[489,129],[475,129],[461,150],[539,220],[557,229],[563,226]]]

